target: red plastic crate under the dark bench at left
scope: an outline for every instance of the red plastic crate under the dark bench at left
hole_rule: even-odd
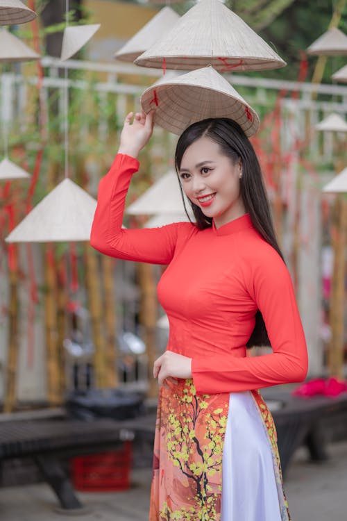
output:
[[[76,456],[71,459],[74,488],[85,492],[110,492],[130,487],[133,445],[125,441],[119,450]]]

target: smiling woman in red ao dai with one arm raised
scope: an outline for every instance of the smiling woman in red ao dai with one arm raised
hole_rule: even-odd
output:
[[[196,224],[124,230],[130,177],[152,130],[153,113],[126,117],[91,238],[104,254],[168,265],[158,284],[170,333],[153,367],[150,521],[287,521],[276,431],[257,389],[305,379],[307,352],[260,166],[231,119],[193,124],[176,169]],[[246,357],[267,334],[273,353]]]

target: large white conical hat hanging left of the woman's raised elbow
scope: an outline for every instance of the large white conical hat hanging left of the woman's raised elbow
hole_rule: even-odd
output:
[[[49,192],[11,231],[7,242],[89,240],[96,200],[70,179]]]

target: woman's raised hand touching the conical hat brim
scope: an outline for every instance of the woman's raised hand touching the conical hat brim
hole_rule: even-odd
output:
[[[133,119],[134,118],[134,119]],[[133,119],[133,122],[131,121]],[[123,130],[121,131],[121,141],[119,145],[119,154],[127,154],[133,158],[137,158],[139,151],[151,138],[153,133],[154,110],[147,115],[142,113],[130,112],[126,116]]]

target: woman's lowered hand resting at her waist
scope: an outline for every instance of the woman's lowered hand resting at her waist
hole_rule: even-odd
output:
[[[166,351],[155,361],[153,377],[158,378],[160,386],[164,384],[165,379],[172,382],[173,378],[192,378],[192,358]]]

